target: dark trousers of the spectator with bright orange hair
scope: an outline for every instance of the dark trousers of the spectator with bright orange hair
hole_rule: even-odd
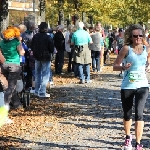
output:
[[[4,95],[5,104],[9,105],[11,102],[13,106],[20,105],[20,99],[16,93],[16,84],[20,78],[21,66],[17,64],[3,64],[2,72],[8,80],[8,88]]]

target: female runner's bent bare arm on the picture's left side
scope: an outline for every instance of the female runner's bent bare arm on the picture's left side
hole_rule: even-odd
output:
[[[113,71],[122,71],[122,70],[127,70],[127,69],[130,68],[130,66],[132,65],[131,63],[126,63],[125,66],[120,66],[120,64],[122,63],[123,59],[128,54],[128,51],[129,51],[128,46],[124,46],[120,50],[120,53],[119,53],[118,57],[116,58],[116,60],[114,62]]]

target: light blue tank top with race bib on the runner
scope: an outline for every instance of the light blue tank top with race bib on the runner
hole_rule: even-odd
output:
[[[128,55],[124,58],[123,63],[131,63],[131,67],[124,71],[124,77],[121,89],[137,89],[141,87],[149,87],[146,77],[146,62],[148,53],[146,47],[143,46],[142,54],[136,54],[129,46]]]

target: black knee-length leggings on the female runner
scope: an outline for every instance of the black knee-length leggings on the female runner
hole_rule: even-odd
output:
[[[149,88],[141,87],[138,89],[121,89],[121,101],[124,112],[124,120],[132,118],[133,99],[135,97],[135,121],[143,121],[143,110],[146,99],[148,98]]]

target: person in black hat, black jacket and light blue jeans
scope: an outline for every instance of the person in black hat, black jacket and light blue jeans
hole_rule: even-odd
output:
[[[48,24],[41,22],[39,33],[32,39],[31,49],[35,58],[35,95],[39,97],[50,97],[46,93],[46,86],[50,76],[50,61],[54,51],[53,40],[47,35]]]

